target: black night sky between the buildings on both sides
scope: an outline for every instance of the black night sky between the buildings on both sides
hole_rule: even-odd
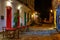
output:
[[[40,13],[40,17],[49,17],[52,8],[52,0],[35,0],[35,11]]]

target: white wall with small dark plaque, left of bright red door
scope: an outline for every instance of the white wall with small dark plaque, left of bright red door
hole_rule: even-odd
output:
[[[0,0],[0,32],[2,31],[2,27],[5,27],[5,19],[1,20],[1,16],[5,16],[5,0]]]

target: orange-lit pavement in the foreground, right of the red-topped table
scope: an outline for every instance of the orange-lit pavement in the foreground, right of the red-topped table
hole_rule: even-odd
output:
[[[25,35],[21,40],[60,40],[60,34],[51,34],[49,36],[42,35]]]

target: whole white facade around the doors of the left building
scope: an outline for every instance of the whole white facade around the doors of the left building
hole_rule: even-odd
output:
[[[12,0],[12,26],[13,26],[13,18],[14,13],[17,10],[18,5],[22,5],[20,10],[20,23],[24,25],[24,12],[29,13],[31,11],[29,8],[19,3],[18,1]],[[1,20],[1,16],[4,16],[4,20]],[[6,27],[6,0],[0,0],[0,31],[2,31],[2,27]]]

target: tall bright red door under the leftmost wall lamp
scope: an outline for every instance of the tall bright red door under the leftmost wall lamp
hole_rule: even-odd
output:
[[[6,7],[6,28],[11,29],[11,23],[12,23],[12,8],[7,6]]]

